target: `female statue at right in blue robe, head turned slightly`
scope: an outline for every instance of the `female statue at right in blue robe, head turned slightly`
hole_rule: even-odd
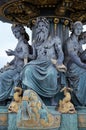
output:
[[[72,98],[74,98],[73,102],[75,105],[86,105],[86,64],[80,58],[83,49],[79,42],[82,30],[82,23],[80,21],[75,22],[72,34],[64,44],[67,81],[68,85],[73,88],[74,94]]]

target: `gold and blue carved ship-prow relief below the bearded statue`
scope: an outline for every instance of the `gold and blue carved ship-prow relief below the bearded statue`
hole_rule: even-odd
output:
[[[49,111],[40,97],[33,90],[24,92],[17,114],[18,129],[42,130],[60,127],[61,116],[55,110]]]

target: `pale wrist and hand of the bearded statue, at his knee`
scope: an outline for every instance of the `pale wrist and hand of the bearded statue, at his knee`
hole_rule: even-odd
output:
[[[51,59],[51,62],[55,65],[56,69],[60,72],[66,72],[67,68],[64,64],[58,64],[56,59]]]

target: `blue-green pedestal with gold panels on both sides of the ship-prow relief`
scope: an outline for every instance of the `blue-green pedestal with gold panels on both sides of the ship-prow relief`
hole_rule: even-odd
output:
[[[52,114],[58,115],[60,120],[59,128],[46,128],[45,130],[86,130],[86,107],[76,108],[76,114],[60,114],[55,107],[48,107]],[[17,127],[17,114],[7,113],[8,108],[0,106],[0,130],[36,130],[36,128]],[[37,130],[43,130],[37,129]]]

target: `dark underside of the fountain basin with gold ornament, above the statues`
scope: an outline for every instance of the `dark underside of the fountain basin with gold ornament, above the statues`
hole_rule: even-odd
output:
[[[86,23],[86,0],[1,0],[0,19],[27,25],[38,16],[67,17]]]

